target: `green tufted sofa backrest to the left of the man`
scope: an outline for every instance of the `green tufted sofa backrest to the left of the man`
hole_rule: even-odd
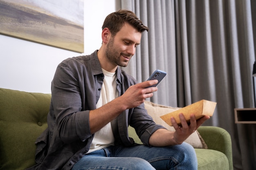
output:
[[[47,128],[51,95],[0,88],[0,170],[35,164],[36,138]]]

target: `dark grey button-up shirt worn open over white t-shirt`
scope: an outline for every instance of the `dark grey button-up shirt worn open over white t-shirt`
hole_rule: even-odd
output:
[[[48,128],[36,140],[36,163],[31,170],[70,170],[88,152],[94,134],[90,132],[89,111],[96,109],[104,75],[97,51],[61,62],[52,80],[52,100],[47,116]],[[117,68],[119,96],[137,81]],[[119,142],[132,146],[128,125],[135,128],[148,145],[150,135],[159,128],[147,114],[144,104],[125,110],[117,117]],[[97,159],[97,158],[95,158]]]

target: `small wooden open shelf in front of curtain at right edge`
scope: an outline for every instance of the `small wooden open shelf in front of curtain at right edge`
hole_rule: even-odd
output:
[[[256,108],[235,108],[236,124],[256,124]]]

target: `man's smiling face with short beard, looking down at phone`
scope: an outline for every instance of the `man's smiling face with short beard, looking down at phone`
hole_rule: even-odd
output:
[[[140,44],[141,33],[125,23],[115,37],[111,36],[106,46],[106,57],[115,65],[126,67]]]

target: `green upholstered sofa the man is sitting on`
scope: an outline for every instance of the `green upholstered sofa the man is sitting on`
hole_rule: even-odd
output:
[[[34,142],[47,128],[51,95],[0,88],[0,170],[24,170],[35,164]],[[233,170],[231,138],[218,127],[198,129],[208,149],[195,148],[198,170]],[[129,134],[140,143],[135,131]]]

